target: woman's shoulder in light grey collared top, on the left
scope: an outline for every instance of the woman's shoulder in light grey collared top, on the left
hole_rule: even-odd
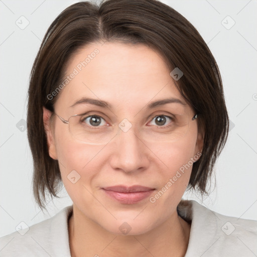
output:
[[[69,256],[67,206],[52,218],[0,238],[0,255],[5,256]],[[57,247],[58,246],[58,247]]]

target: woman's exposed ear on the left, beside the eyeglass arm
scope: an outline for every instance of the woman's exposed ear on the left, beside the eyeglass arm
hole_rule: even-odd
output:
[[[43,121],[44,121],[46,137],[47,137],[49,156],[52,159],[57,160],[57,153],[56,153],[55,140],[54,140],[54,130],[50,119],[51,116],[52,116],[52,111],[46,109],[43,106]]]

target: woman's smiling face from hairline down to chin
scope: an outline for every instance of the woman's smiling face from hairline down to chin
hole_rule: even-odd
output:
[[[82,142],[77,140],[82,134],[74,137],[69,125],[54,115],[53,130],[48,134],[49,153],[59,162],[74,208],[109,232],[142,234],[177,215],[176,207],[188,185],[192,163],[199,157],[201,141],[197,122],[192,120],[196,113],[176,89],[170,72],[151,48],[122,43],[88,45],[67,64],[69,83],[64,83],[59,93],[55,112],[66,120],[89,112],[102,117],[98,129],[114,125],[120,125],[120,129],[107,143],[101,141],[101,135],[107,132],[99,134],[99,140],[94,135],[94,144],[89,142],[90,136]],[[111,107],[87,102],[74,105],[84,97],[105,101]],[[148,108],[166,98],[177,100]],[[46,124],[48,112],[44,109]],[[159,121],[155,118],[158,115]],[[186,130],[177,125],[174,132],[161,131],[161,126],[172,124],[169,116],[175,123],[180,118],[191,121]],[[90,118],[84,122],[92,126]],[[117,192],[135,185],[149,189]],[[114,186],[118,187],[108,190]]]

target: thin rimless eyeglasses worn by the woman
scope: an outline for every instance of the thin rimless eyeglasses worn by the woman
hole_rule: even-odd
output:
[[[69,132],[74,139],[92,145],[105,145],[120,131],[121,133],[126,133],[133,126],[127,119],[123,119],[121,122],[113,125],[101,125],[101,120],[105,121],[105,119],[98,114],[75,114],[70,116],[68,120],[65,120],[58,114],[56,115],[64,124],[69,125]],[[190,122],[195,120],[197,116],[198,114],[195,114],[191,118],[186,113],[177,115],[154,115],[151,121],[161,123],[161,125],[144,126],[140,127],[137,131],[140,138],[147,142],[174,142],[185,137]],[[170,120],[170,122],[168,125],[163,126],[163,123],[166,123],[167,120]],[[88,124],[88,122],[90,124]]]

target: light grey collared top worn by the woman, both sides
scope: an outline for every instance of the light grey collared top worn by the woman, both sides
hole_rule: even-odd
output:
[[[0,256],[71,257],[67,206],[52,218],[0,238]],[[257,221],[224,216],[196,201],[181,201],[178,213],[191,221],[185,257],[257,256]],[[24,232],[26,232],[24,235]],[[100,252],[97,253],[101,256]]]

